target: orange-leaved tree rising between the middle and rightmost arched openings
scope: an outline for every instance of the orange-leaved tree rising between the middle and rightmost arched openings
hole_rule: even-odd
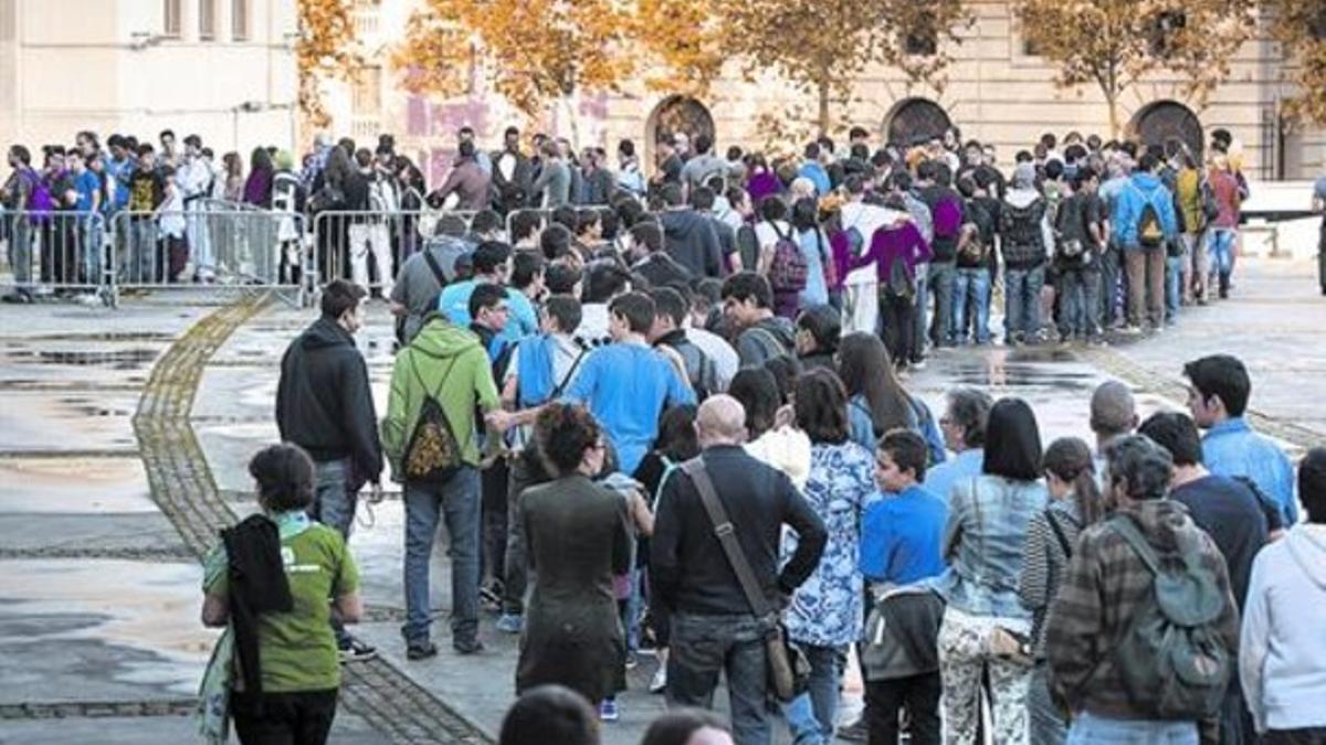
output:
[[[1022,37],[1065,87],[1095,85],[1118,137],[1119,99],[1146,76],[1181,77],[1197,101],[1229,76],[1257,30],[1257,0],[1016,0]]]

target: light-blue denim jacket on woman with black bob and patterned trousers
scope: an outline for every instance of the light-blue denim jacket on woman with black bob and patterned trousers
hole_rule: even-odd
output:
[[[953,484],[944,529],[949,606],[973,615],[1032,618],[1017,585],[1028,525],[1048,501],[1040,481],[984,475]]]

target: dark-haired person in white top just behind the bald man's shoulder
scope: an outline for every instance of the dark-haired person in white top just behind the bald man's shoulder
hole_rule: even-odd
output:
[[[732,378],[728,395],[747,412],[747,452],[805,489],[810,477],[810,437],[794,427],[778,426],[782,400],[774,374],[765,367],[747,367]]]

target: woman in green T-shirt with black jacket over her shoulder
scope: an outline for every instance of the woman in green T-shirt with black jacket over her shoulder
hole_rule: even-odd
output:
[[[314,484],[308,453],[272,445],[248,469],[263,512],[224,530],[204,562],[203,624],[228,628],[204,675],[203,726],[224,728],[212,712],[225,711],[228,692],[241,744],[321,745],[341,688],[332,618],[359,620],[359,571],[341,533],[305,512]]]

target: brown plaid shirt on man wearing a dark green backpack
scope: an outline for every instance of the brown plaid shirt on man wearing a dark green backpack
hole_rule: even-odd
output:
[[[1155,500],[1120,508],[1115,514],[1132,520],[1162,557],[1176,550],[1180,532],[1200,533],[1201,561],[1228,597],[1220,634],[1231,651],[1237,650],[1238,611],[1229,591],[1225,562],[1211,537],[1188,517],[1187,509],[1171,500]],[[1073,712],[1143,718],[1123,689],[1113,650],[1127,632],[1138,607],[1150,597],[1151,582],[1142,559],[1107,524],[1082,533],[1045,627],[1053,689]]]

